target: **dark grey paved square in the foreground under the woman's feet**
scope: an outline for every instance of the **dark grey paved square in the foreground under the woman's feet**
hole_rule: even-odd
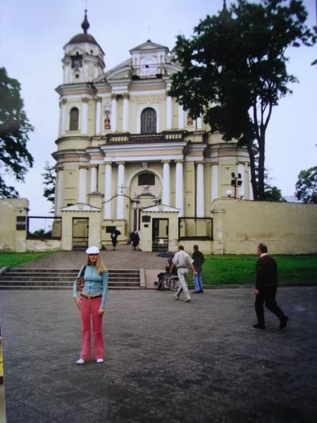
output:
[[[252,289],[110,291],[104,364],[75,364],[68,291],[1,291],[7,423],[316,423],[317,287],[280,288],[284,331]]]

